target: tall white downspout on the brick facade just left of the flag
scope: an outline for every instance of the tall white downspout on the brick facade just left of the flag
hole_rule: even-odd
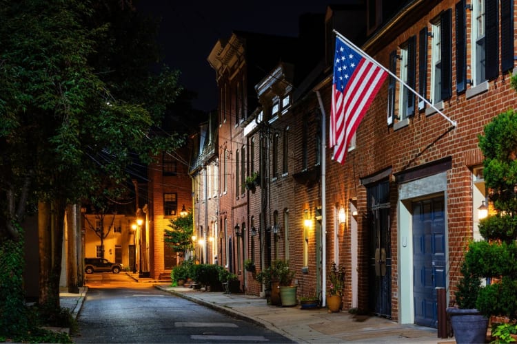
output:
[[[325,307],[327,300],[327,183],[325,180],[325,170],[327,169],[327,155],[325,152],[325,136],[326,117],[325,107],[323,107],[323,100],[319,89],[316,89],[316,96],[318,96],[318,103],[321,109],[321,304]]]

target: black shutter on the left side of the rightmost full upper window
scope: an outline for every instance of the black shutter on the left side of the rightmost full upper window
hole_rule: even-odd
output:
[[[465,0],[456,3],[456,92],[467,88],[467,25]]]

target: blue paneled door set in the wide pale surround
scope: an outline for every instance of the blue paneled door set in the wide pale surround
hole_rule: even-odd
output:
[[[438,326],[436,288],[445,288],[443,197],[413,202],[413,297],[415,323]]]

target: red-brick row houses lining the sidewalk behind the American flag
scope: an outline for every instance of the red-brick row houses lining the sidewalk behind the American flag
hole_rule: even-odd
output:
[[[361,9],[364,17],[352,12]],[[364,20],[366,36],[345,25],[352,13]],[[329,6],[320,69],[300,72],[299,60],[284,57],[254,79],[245,73],[252,64],[243,37],[219,41],[209,57],[221,94],[219,264],[241,272],[242,257],[258,268],[290,259],[301,296],[325,294],[335,261],[347,269],[345,308],[436,327],[435,288],[454,301],[463,249],[478,237],[476,210],[486,200],[478,135],[516,103],[509,83],[515,17],[506,0]],[[389,77],[344,164],[331,149],[318,153],[328,133],[332,29],[427,100]],[[243,184],[255,171],[253,193]],[[235,238],[235,228],[244,239]],[[261,292],[251,274],[243,280],[246,292]]]

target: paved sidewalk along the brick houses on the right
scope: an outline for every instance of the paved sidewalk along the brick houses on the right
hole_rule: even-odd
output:
[[[260,297],[245,294],[204,292],[163,284],[155,287],[247,319],[297,343],[455,343],[454,338],[438,338],[436,329],[401,325],[376,316],[329,313],[326,308],[301,310],[299,305],[278,307],[267,305]]]

